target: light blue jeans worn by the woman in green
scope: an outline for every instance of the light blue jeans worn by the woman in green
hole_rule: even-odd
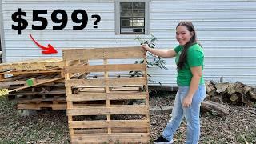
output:
[[[189,86],[178,86],[178,92],[176,94],[174,108],[171,114],[172,117],[162,132],[162,136],[169,141],[173,139],[174,133],[178,129],[178,126],[180,126],[183,116],[185,116],[187,122],[186,144],[196,144],[199,141],[200,105],[204,98],[206,98],[206,86],[199,85],[198,90],[192,98],[191,106],[184,108],[182,107],[183,98],[186,97],[189,89]]]

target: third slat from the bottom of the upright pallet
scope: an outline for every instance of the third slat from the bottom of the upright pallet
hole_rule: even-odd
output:
[[[84,106],[67,109],[67,115],[148,114],[146,106]]]

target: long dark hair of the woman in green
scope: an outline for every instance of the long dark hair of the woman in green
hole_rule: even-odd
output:
[[[176,29],[177,29],[178,26],[186,26],[186,29],[190,31],[190,34],[193,34],[192,37],[190,38],[190,41],[187,42],[184,45],[183,50],[182,50],[182,54],[179,56],[179,59],[178,59],[178,70],[181,70],[183,68],[183,66],[185,66],[185,63],[186,63],[186,59],[187,59],[186,53],[187,53],[187,50],[189,49],[190,46],[198,43],[198,41],[197,41],[197,36],[196,36],[196,33],[195,33],[194,26],[193,26],[192,22],[182,21],[182,22],[178,23],[178,25],[176,26]]]

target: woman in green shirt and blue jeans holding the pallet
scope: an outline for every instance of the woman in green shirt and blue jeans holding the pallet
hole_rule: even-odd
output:
[[[200,135],[200,105],[206,97],[206,87],[202,76],[204,54],[197,42],[192,22],[179,22],[176,27],[177,47],[170,50],[154,50],[142,45],[147,51],[159,57],[176,57],[178,92],[175,97],[172,118],[162,135],[154,143],[173,143],[175,131],[182,122],[187,122],[186,143],[195,144]]]

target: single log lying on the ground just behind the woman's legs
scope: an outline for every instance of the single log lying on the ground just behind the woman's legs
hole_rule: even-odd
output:
[[[207,111],[215,111],[219,116],[226,116],[229,113],[230,107],[222,105],[218,102],[204,101],[201,103],[201,109]]]

